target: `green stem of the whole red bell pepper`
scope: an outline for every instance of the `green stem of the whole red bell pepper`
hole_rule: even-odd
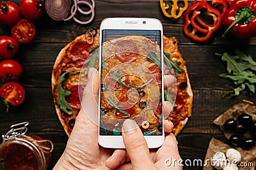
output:
[[[235,14],[236,20],[228,27],[228,29],[224,32],[224,34],[221,36],[221,38],[226,38],[227,34],[230,32],[230,30],[237,24],[248,24],[252,21],[254,16],[254,10],[250,8],[249,6],[244,6],[237,10]]]

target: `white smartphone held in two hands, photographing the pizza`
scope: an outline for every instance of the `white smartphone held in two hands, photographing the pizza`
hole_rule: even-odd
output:
[[[122,124],[138,124],[148,148],[164,142],[163,25],[155,18],[106,18],[100,24],[99,145],[125,148]]]

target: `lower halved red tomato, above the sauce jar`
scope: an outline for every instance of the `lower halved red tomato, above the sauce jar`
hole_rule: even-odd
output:
[[[0,88],[0,96],[12,106],[18,106],[25,99],[25,89],[16,82],[4,83]]]

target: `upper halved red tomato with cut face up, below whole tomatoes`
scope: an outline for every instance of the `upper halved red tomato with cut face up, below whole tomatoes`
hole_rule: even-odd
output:
[[[12,27],[12,37],[20,43],[29,43],[36,34],[35,25],[27,19],[20,19],[19,22]]]

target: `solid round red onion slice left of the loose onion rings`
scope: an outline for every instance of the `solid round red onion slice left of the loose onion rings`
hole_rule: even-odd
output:
[[[64,20],[70,11],[70,0],[46,0],[45,10],[52,20]]]

